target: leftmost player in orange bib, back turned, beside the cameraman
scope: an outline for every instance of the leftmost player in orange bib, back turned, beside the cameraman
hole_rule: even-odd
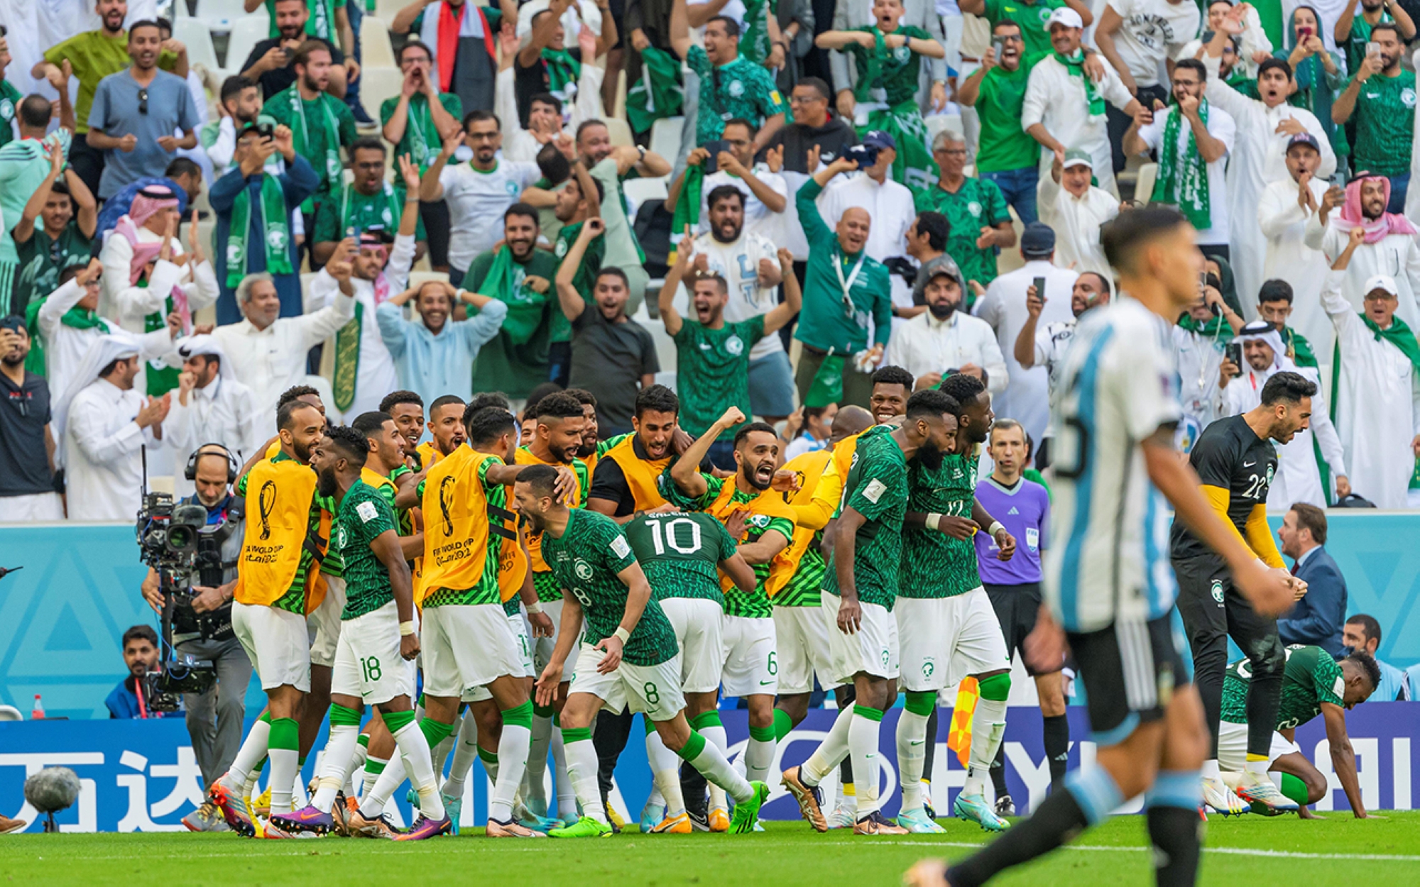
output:
[[[258,460],[237,481],[237,495],[246,498],[251,519],[237,565],[231,627],[267,694],[267,711],[251,725],[209,796],[227,825],[247,836],[256,834],[254,820],[233,802],[244,796],[248,775],[270,758],[270,810],[288,813],[300,768],[297,717],[311,690],[307,578],[315,553],[325,553],[315,539],[329,535],[322,532],[315,473],[307,465],[324,429],[320,410],[298,399],[287,402],[277,410],[280,450]]]

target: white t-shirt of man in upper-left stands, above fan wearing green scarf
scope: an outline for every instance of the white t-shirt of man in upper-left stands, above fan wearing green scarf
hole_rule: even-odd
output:
[[[439,184],[449,204],[449,264],[467,270],[479,253],[491,250],[503,238],[503,213],[541,176],[537,163],[514,160],[498,160],[490,172],[471,163],[446,166]]]

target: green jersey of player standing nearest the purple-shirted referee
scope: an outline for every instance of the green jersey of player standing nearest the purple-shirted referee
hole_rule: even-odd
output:
[[[971,519],[976,502],[976,456],[944,453],[939,468],[922,460],[907,467],[907,511]],[[956,597],[981,585],[976,542],[913,527],[902,531],[899,597]]]

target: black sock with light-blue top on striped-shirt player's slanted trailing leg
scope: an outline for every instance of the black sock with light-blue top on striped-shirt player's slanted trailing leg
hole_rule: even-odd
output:
[[[1030,819],[1004,832],[984,850],[947,869],[947,881],[953,887],[978,887],[1011,866],[1044,856],[1075,833],[1098,825],[1123,800],[1113,776],[1102,766],[1089,773],[1075,771],[1065,778],[1065,789],[1052,792]],[[1197,810],[1193,816],[1198,816]]]

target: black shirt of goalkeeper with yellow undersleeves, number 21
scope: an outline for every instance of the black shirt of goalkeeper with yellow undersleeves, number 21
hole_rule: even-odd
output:
[[[1189,453],[1189,464],[1206,487],[1228,491],[1228,519],[1245,536],[1247,519],[1252,508],[1267,504],[1267,488],[1277,474],[1272,441],[1258,437],[1242,416],[1230,416],[1203,430]],[[1169,545],[1174,558],[1213,552],[1177,519],[1169,534]]]

